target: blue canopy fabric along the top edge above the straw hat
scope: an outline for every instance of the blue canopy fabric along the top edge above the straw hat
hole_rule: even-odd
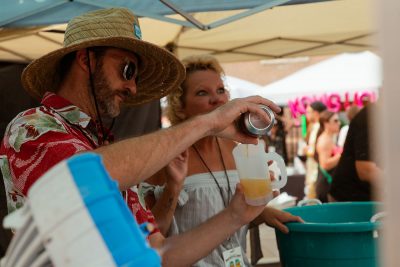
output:
[[[126,1],[126,0],[22,0],[6,1],[0,11],[0,27],[27,27],[68,22],[79,14],[108,7],[126,7],[135,11],[140,17],[149,17],[187,27],[198,27],[202,30],[215,28],[231,21],[261,12],[279,5],[294,5],[329,0],[160,0],[160,1]],[[190,13],[243,10],[208,25],[196,21]],[[177,20],[166,15],[181,14],[187,19]]]

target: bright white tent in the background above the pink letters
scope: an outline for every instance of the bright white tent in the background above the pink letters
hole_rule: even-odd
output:
[[[378,93],[382,85],[381,59],[371,52],[344,53],[306,67],[258,93],[280,105],[301,97],[345,94],[352,98],[365,91]],[[250,94],[253,92],[250,92]]]

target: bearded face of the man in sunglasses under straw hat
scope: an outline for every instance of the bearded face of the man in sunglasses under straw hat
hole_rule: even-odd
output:
[[[133,53],[114,48],[96,62],[93,83],[101,116],[118,116],[121,103],[136,93],[137,64]]]

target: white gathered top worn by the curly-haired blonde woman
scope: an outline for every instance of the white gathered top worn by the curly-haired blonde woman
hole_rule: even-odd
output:
[[[213,172],[222,189],[225,203],[228,199],[228,183],[224,171]],[[236,170],[227,171],[231,188],[230,199],[235,194],[239,175]],[[156,199],[161,195],[162,189],[156,188]],[[168,232],[168,236],[184,233],[212,216],[222,211],[224,207],[220,190],[210,173],[200,173],[186,177],[183,189],[179,195],[178,205]],[[240,246],[245,266],[251,266],[246,257],[246,233],[248,226],[240,228],[228,240],[214,249],[207,257],[201,259],[193,266],[214,267],[225,266],[222,253],[225,250]],[[188,244],[190,245],[190,244]]]

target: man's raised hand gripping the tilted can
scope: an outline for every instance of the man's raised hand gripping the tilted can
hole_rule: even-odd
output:
[[[234,121],[240,117],[241,114],[251,112],[256,113],[260,118],[264,118],[265,121],[269,122],[269,116],[260,108],[260,104],[268,106],[274,112],[281,111],[277,105],[268,99],[260,96],[249,96],[229,101],[225,105],[203,116],[206,116],[207,121],[212,123],[212,135],[234,139],[241,143],[257,144],[257,137],[248,136],[239,132],[235,127]]]

